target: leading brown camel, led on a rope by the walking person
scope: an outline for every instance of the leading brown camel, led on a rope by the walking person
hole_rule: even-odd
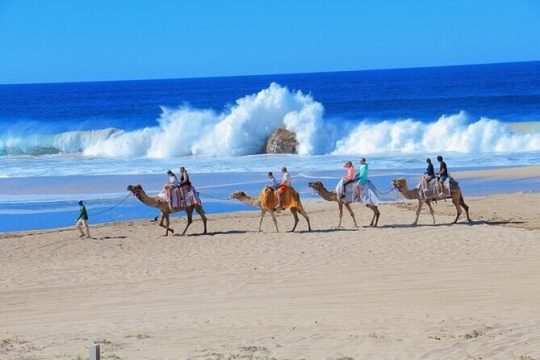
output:
[[[169,220],[169,214],[178,212],[178,211],[186,211],[188,216],[188,222],[186,224],[186,228],[182,232],[182,235],[186,234],[187,229],[189,228],[189,225],[193,222],[193,210],[197,211],[197,213],[201,216],[201,219],[204,224],[204,232],[203,234],[206,234],[206,215],[204,213],[204,209],[201,204],[197,205],[191,205],[183,209],[172,209],[171,205],[168,201],[164,200],[163,198],[159,196],[148,196],[144,192],[141,185],[128,185],[128,191],[131,191],[133,195],[137,197],[143,204],[150,207],[158,208],[161,211],[161,221],[159,222],[159,226],[165,228],[165,236],[169,235],[169,231],[174,234],[174,230],[169,227],[170,220]],[[165,224],[163,222],[165,221]]]

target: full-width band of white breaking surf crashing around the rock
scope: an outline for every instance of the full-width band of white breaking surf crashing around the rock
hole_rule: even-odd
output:
[[[262,153],[267,138],[277,128],[296,133],[301,155],[540,151],[538,127],[470,119],[463,111],[442,115],[431,123],[414,119],[330,121],[324,117],[323,105],[312,96],[276,83],[238,99],[221,113],[163,107],[157,122],[155,127],[134,131],[108,128],[52,135],[10,129],[0,135],[0,155],[243,156]]]

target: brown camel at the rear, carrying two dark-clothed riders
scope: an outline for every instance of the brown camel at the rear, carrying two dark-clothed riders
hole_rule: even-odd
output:
[[[448,180],[450,181],[450,179]],[[452,181],[450,183],[450,196],[442,194],[433,196],[430,198],[425,198],[424,192],[422,189],[412,189],[410,190],[407,186],[407,180],[405,179],[394,179],[392,180],[392,184],[398,191],[405,196],[406,199],[417,199],[418,200],[418,209],[416,210],[416,220],[414,221],[413,225],[418,224],[418,217],[420,216],[420,211],[422,210],[422,205],[424,203],[427,204],[429,207],[429,212],[431,213],[431,216],[433,217],[433,223],[435,224],[435,212],[433,211],[433,208],[431,207],[432,201],[437,200],[444,200],[444,199],[452,199],[452,203],[456,207],[457,215],[456,219],[454,220],[454,224],[457,223],[459,216],[461,215],[461,207],[465,209],[465,213],[467,214],[467,220],[471,222],[471,218],[469,217],[469,207],[465,204],[465,201],[463,200],[463,194],[461,193],[461,188],[457,184],[457,182]]]

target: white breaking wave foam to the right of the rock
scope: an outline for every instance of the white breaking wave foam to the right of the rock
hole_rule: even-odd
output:
[[[361,123],[336,144],[335,154],[493,153],[539,151],[540,133],[514,133],[497,120],[471,122],[465,112],[441,116],[433,123],[412,119]]]

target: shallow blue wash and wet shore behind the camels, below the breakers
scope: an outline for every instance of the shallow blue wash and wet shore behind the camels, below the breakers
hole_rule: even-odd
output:
[[[372,170],[371,179],[380,191],[386,191],[392,178],[405,177],[409,185],[419,181],[423,170]],[[514,193],[535,191],[540,184],[540,166],[480,168],[451,172],[462,187],[466,196],[485,194]],[[233,191],[243,190],[256,195],[266,183],[265,174],[238,173],[228,174],[227,183],[223,183],[223,174],[192,174],[197,190],[201,192],[203,206],[207,213],[230,213],[248,211],[250,208],[239,202],[225,200]],[[293,181],[300,192],[302,200],[316,200],[318,196],[307,186],[309,181],[322,179],[329,189],[342,176],[342,171],[312,171],[293,173]],[[262,180],[261,180],[262,179]],[[0,234],[19,231],[37,231],[42,229],[70,228],[78,215],[78,200],[84,200],[89,211],[91,224],[103,224],[116,221],[133,221],[136,219],[154,218],[159,214],[157,209],[146,207],[132,197],[121,206],[113,208],[127,193],[120,192],[116,197],[110,191],[125,189],[128,183],[143,184],[151,194],[157,193],[163,184],[160,175],[115,175],[97,177],[55,177],[50,181],[35,182],[28,180],[0,180]],[[104,185],[102,185],[104,184]],[[11,189],[15,189],[15,193]],[[96,195],[97,190],[103,191]],[[87,191],[88,194],[76,192]],[[23,192],[24,195],[23,195]],[[63,192],[58,194],[58,192]],[[32,196],[33,202],[20,200],[21,196]],[[42,194],[42,195],[38,195]],[[93,195],[91,195],[93,194]],[[97,197],[97,198],[96,198]],[[383,201],[395,201],[394,194],[386,195]],[[24,198],[23,198],[24,199]],[[41,199],[41,200],[39,200]],[[216,200],[223,199],[223,200]],[[122,200],[123,201],[123,200]],[[104,211],[106,210],[106,211]],[[94,216],[94,214],[98,214]]]

